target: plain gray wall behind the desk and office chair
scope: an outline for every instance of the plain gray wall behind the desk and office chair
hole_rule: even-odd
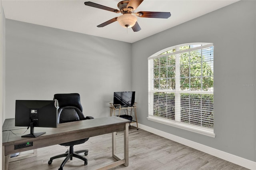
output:
[[[130,43],[6,19],[6,119],[16,99],[55,93],[80,93],[85,115],[109,116],[113,92],[131,90],[131,51]]]

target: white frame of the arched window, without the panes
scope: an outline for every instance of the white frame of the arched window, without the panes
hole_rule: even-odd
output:
[[[198,45],[198,44],[202,44],[202,46],[200,47],[194,47],[194,48],[190,48],[190,49],[185,49],[185,50],[182,50],[182,52],[180,52],[179,49],[181,46],[186,46],[186,45]],[[177,98],[180,99],[180,97],[176,97],[175,98],[175,121],[174,120],[171,120],[171,119],[164,119],[164,118],[161,118],[161,117],[158,117],[158,116],[154,116],[153,114],[153,103],[150,104],[151,101],[153,101],[152,98],[154,98],[154,95],[153,93],[154,92],[168,92],[168,93],[175,93],[175,95],[180,95],[181,91],[184,93],[183,90],[180,90],[180,82],[175,82],[175,90],[172,90],[172,89],[157,89],[155,90],[154,89],[154,81],[153,81],[153,76],[154,76],[154,72],[153,72],[153,64],[152,62],[150,61],[151,59],[154,59],[154,58],[159,58],[159,57],[164,57],[164,56],[169,56],[169,55],[179,55],[180,53],[184,53],[184,52],[188,52],[188,51],[194,51],[196,49],[204,49],[206,47],[212,47],[213,46],[213,43],[184,43],[184,44],[180,44],[180,45],[175,45],[175,46],[172,46],[172,47],[168,47],[168,48],[165,48],[165,49],[162,49],[160,51],[158,51],[157,53],[154,53],[153,55],[151,55],[150,57],[148,57],[148,117],[147,119],[150,120],[150,121],[154,121],[154,122],[158,122],[158,123],[162,123],[164,125],[169,125],[169,126],[172,126],[172,127],[176,127],[176,128],[181,128],[181,129],[184,129],[184,130],[188,130],[188,131],[191,131],[191,132],[196,132],[196,133],[199,133],[199,134],[203,134],[203,135],[206,135],[206,136],[210,136],[210,137],[215,137],[215,134],[214,134],[214,128],[208,128],[208,127],[201,127],[199,125],[193,125],[193,124],[189,124],[189,123],[183,123],[183,122],[180,122],[180,112],[177,112],[176,110],[176,103],[180,103],[180,101],[176,101]],[[203,47],[203,48],[202,48]],[[166,51],[169,51],[169,50],[172,50],[172,49],[176,49],[175,52],[173,53],[167,53],[167,54],[163,54],[161,55],[162,53],[166,52]],[[177,60],[180,59],[180,57],[175,57],[175,67],[176,68],[180,68],[180,61]],[[179,77],[178,79],[180,80],[180,71],[179,69],[175,69],[175,72],[176,72],[176,77]],[[179,89],[179,90],[177,90]],[[186,93],[196,93],[196,94],[212,94],[213,95],[213,90],[212,91],[186,91]],[[152,111],[152,112],[150,112]]]

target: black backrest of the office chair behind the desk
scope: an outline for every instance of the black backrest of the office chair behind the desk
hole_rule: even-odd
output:
[[[58,123],[84,120],[80,95],[78,93],[55,94],[58,100]]]

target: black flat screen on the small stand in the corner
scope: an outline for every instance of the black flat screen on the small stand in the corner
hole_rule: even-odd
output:
[[[135,101],[135,91],[114,92],[114,105],[121,107],[132,107]]]

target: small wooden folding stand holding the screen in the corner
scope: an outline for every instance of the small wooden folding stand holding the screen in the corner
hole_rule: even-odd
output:
[[[119,112],[118,112],[118,117],[120,117],[120,111],[121,111],[121,109],[126,109],[126,112],[127,112],[127,115],[128,115],[128,109],[131,109],[131,111],[130,111],[130,116],[132,116],[132,109],[134,109],[134,115],[135,115],[135,119],[136,119],[136,121],[134,121],[134,120],[132,120],[130,123],[129,123],[129,125],[131,124],[131,123],[136,123],[136,125],[137,125],[137,130],[139,130],[139,128],[138,128],[138,121],[137,121],[137,112],[136,112],[136,108],[137,108],[137,103],[134,103],[134,105],[133,106],[131,106],[131,107],[122,107],[121,105],[115,105],[114,103],[109,103],[110,104],[110,116],[112,116],[112,114],[114,113],[114,116],[116,116],[115,115],[115,110],[118,110]]]

